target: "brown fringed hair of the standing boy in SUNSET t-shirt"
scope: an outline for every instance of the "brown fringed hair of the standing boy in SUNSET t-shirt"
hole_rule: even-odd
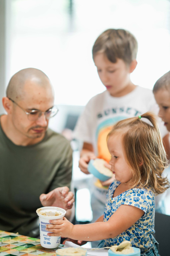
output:
[[[116,63],[122,59],[130,64],[136,59],[138,43],[136,38],[124,29],[107,29],[96,39],[93,48],[93,60],[97,53],[104,53],[109,61]]]

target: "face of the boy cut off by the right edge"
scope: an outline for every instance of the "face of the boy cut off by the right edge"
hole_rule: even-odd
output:
[[[170,132],[170,92],[166,89],[160,89],[154,93],[155,100],[159,105],[159,116],[164,121],[164,125]]]

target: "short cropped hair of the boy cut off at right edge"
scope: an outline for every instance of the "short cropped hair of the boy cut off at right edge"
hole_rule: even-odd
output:
[[[153,93],[157,92],[160,89],[170,90],[170,71],[161,76],[153,87]]]

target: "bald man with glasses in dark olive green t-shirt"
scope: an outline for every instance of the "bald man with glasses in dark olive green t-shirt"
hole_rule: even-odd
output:
[[[7,114],[0,116],[0,230],[38,237],[37,208],[69,212],[73,206],[72,149],[48,128],[58,109],[41,70],[17,72],[2,102]]]

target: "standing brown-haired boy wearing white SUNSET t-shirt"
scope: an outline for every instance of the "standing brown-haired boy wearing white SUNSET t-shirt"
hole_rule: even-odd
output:
[[[89,100],[74,131],[74,137],[83,141],[79,167],[86,174],[90,159],[97,157],[109,162],[106,136],[115,122],[147,111],[158,112],[152,90],[130,80],[137,65],[137,48],[135,37],[124,29],[104,31],[93,45],[93,61],[106,90]],[[166,134],[167,131],[162,137],[168,147]],[[103,214],[107,188],[113,178],[106,182],[95,179],[91,186],[92,222]]]

